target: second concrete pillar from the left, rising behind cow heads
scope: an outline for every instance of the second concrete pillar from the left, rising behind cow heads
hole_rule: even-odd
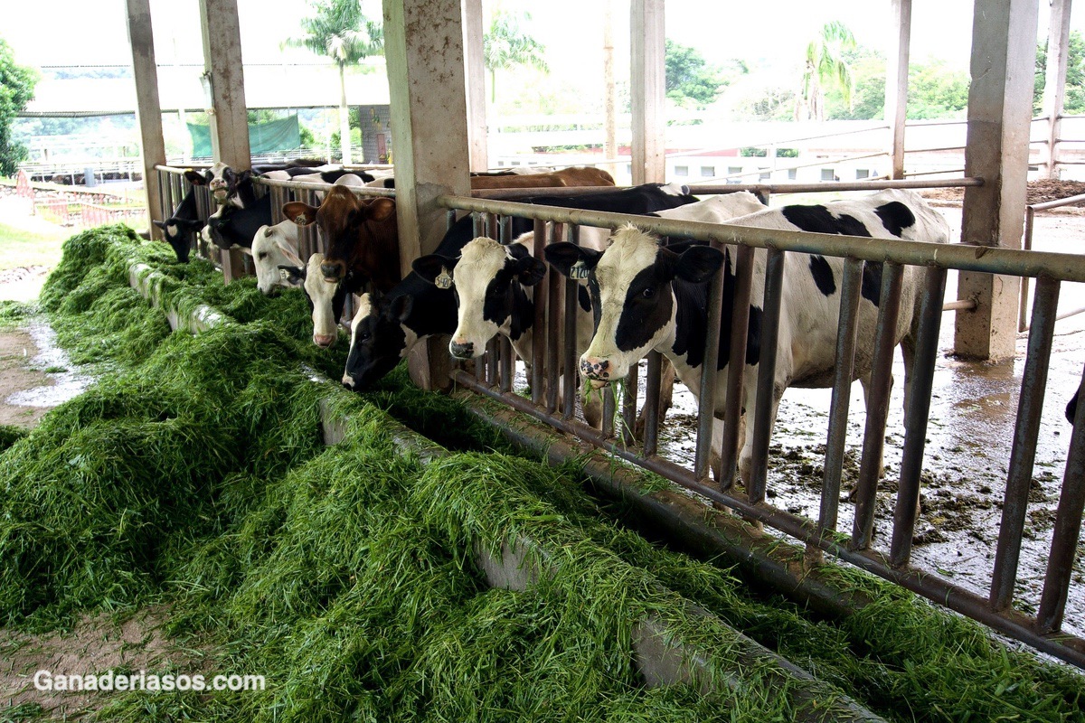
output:
[[[234,170],[252,168],[238,0],[200,0],[200,30],[204,74],[210,80],[213,154]]]

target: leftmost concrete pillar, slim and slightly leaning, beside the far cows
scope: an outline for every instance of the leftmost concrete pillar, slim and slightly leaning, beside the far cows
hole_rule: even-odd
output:
[[[128,42],[132,50],[132,76],[136,78],[136,122],[140,132],[148,229],[152,238],[161,240],[162,230],[152,223],[165,220],[158,172],[154,167],[166,164],[166,143],[162,138],[162,106],[158,104],[158,70],[154,62],[151,4],[150,0],[127,0],[127,3]]]

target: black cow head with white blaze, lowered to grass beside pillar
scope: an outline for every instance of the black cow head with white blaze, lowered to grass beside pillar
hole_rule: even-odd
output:
[[[373,299],[362,294],[350,321],[350,352],[346,358],[343,385],[363,389],[395,369],[417,340],[404,323],[414,298],[409,294]]]

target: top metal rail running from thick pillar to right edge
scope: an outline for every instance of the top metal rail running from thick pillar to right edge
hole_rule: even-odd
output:
[[[896,238],[879,238],[877,244],[871,244],[869,237],[860,236],[751,229],[723,223],[533,206],[467,196],[439,196],[437,203],[446,208],[489,210],[510,216],[586,225],[617,228],[624,223],[633,223],[639,229],[660,235],[685,235],[701,241],[720,241],[725,244],[746,244],[756,248],[771,247],[822,256],[853,256],[876,263],[891,260],[912,266],[936,266],[944,269],[1019,276],[1046,275],[1062,281],[1085,282],[1085,260],[1078,254],[1024,251],[971,244],[932,244]]]

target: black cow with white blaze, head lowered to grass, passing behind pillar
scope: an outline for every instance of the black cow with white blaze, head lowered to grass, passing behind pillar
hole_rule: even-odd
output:
[[[532,196],[525,203],[563,208],[587,208],[624,214],[647,214],[697,202],[685,186],[649,183],[608,193],[574,196]],[[512,219],[512,233],[531,230],[528,219]],[[436,254],[457,257],[474,238],[471,217],[457,221],[436,249]],[[350,324],[350,353],[343,384],[362,389],[395,369],[420,340],[435,334],[456,331],[456,297],[451,288],[437,288],[417,273],[409,273],[387,295],[361,297]]]

